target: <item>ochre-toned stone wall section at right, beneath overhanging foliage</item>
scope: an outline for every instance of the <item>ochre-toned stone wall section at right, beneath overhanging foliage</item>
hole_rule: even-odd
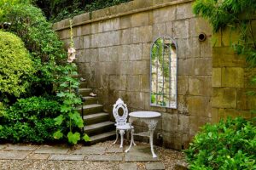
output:
[[[253,30],[256,20],[253,20]],[[256,36],[256,32],[255,32]],[[247,95],[255,91],[256,85],[251,83],[255,69],[248,68],[245,58],[238,56],[231,47],[237,42],[236,31],[226,29],[215,35],[212,48],[212,122],[218,122],[228,116],[252,118],[251,112],[256,110],[256,97]]]

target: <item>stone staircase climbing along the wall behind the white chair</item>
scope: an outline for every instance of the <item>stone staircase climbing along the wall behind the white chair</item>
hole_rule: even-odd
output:
[[[81,82],[82,85],[82,82]],[[96,144],[115,138],[114,122],[110,121],[110,115],[103,111],[103,105],[98,104],[97,97],[90,97],[91,88],[79,88],[79,94],[85,99],[83,107],[78,111],[83,115],[84,133],[90,136],[90,144]]]

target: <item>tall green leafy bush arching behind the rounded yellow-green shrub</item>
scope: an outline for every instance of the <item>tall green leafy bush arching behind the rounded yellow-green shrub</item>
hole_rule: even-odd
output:
[[[0,23],[9,22],[7,31],[15,33],[25,42],[32,55],[36,74],[32,87],[26,96],[51,94],[60,64],[67,54],[51,24],[45,19],[40,8],[27,0],[0,0]]]

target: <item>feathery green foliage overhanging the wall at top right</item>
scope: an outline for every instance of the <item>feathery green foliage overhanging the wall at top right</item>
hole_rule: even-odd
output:
[[[209,20],[214,32],[226,28],[235,31],[239,39],[231,45],[246,57],[249,67],[256,66],[256,0],[196,0],[194,13]],[[252,82],[256,83],[255,75]]]

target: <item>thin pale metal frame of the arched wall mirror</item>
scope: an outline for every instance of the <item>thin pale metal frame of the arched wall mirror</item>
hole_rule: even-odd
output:
[[[177,109],[177,63],[176,63],[176,83],[175,83],[175,86],[176,86],[176,94],[175,94],[175,101],[176,101],[176,104],[174,106],[164,106],[164,105],[153,105],[151,103],[151,95],[152,95],[152,49],[153,49],[153,46],[155,44],[155,42],[157,42],[160,38],[162,39],[170,39],[172,41],[172,43],[175,45],[175,48],[176,48],[176,60],[178,59],[178,48],[177,48],[177,40],[173,39],[172,37],[169,37],[169,36],[160,36],[160,37],[157,37],[154,42],[152,42],[151,44],[151,47],[150,47],[150,78],[149,78],[149,81],[150,81],[150,97],[149,97],[149,102],[150,102],[150,106],[155,106],[155,107],[163,107],[163,108],[171,108],[171,109]],[[170,74],[170,77],[171,77],[171,74]]]

